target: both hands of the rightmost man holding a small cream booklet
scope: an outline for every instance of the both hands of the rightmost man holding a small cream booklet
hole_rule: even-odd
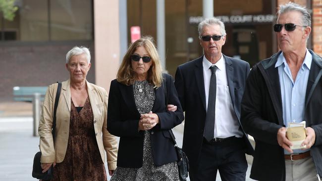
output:
[[[306,148],[303,148],[302,150],[311,148],[311,146],[315,143],[315,138],[316,138],[316,135],[313,128],[307,127],[306,138],[302,142],[302,146],[306,145]],[[282,148],[286,149],[291,154],[293,153],[293,150],[290,148],[290,146],[292,146],[292,142],[289,139],[287,139],[285,127],[278,129],[277,142]]]

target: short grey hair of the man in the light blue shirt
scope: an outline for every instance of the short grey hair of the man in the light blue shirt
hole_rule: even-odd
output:
[[[311,27],[311,15],[309,10],[294,2],[288,2],[286,4],[279,5],[279,9],[277,11],[277,14],[278,14],[277,20],[279,19],[279,16],[281,14],[290,12],[290,11],[300,12],[302,14],[302,18],[301,18],[302,25]]]

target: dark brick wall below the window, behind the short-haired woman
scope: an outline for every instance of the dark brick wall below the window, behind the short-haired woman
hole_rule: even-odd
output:
[[[65,55],[75,45],[90,48],[92,67],[87,80],[95,83],[93,42],[22,44],[0,45],[0,101],[13,100],[12,88],[15,86],[48,86],[67,80]]]

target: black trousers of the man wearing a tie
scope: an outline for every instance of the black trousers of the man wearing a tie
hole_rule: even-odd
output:
[[[204,139],[198,173],[189,173],[191,181],[215,181],[217,170],[222,181],[245,181],[247,161],[243,138],[222,142]]]

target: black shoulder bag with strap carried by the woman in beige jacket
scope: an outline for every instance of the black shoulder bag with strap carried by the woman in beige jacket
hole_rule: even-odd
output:
[[[58,87],[57,87],[57,92],[56,92],[56,98],[55,98],[55,104],[54,104],[54,117],[53,117],[53,139],[55,138],[55,129],[56,129],[56,110],[58,106],[58,100],[59,100],[59,95],[60,95],[60,90],[61,90],[61,83],[58,82]],[[41,168],[41,151],[38,151],[35,154],[34,157],[34,164],[32,167],[32,177],[36,179],[41,179],[43,181],[48,181],[53,178],[53,166],[45,173],[43,173],[43,169]]]

